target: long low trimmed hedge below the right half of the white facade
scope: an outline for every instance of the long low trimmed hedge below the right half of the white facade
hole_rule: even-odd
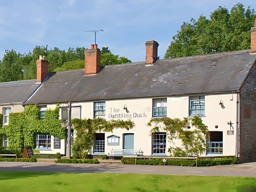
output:
[[[124,164],[135,164],[135,159],[122,158]],[[221,158],[199,158],[197,160],[198,167],[229,165],[236,164],[237,157],[221,157]],[[196,166],[196,160],[189,159],[166,159],[164,163],[160,158],[136,159],[137,165],[171,165],[171,166]]]

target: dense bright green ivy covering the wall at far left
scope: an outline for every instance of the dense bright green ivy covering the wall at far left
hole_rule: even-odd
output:
[[[40,120],[37,105],[28,105],[21,113],[9,114],[9,125],[0,128],[0,135],[8,137],[8,147],[22,151],[24,146],[34,147],[35,134],[50,134],[60,139],[65,138],[66,129],[61,127],[59,109],[47,110],[45,119]]]

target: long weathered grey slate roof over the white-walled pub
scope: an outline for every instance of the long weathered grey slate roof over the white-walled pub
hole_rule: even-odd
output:
[[[249,50],[56,72],[26,104],[97,101],[237,91],[255,63]]]

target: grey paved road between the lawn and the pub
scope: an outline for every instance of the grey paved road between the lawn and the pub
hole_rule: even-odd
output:
[[[0,162],[0,171],[137,173],[162,175],[222,175],[256,177],[256,162],[210,167]]]

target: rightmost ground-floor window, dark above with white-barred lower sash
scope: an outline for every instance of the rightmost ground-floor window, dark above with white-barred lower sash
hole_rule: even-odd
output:
[[[207,154],[222,154],[223,153],[223,132],[210,131],[207,138]]]

